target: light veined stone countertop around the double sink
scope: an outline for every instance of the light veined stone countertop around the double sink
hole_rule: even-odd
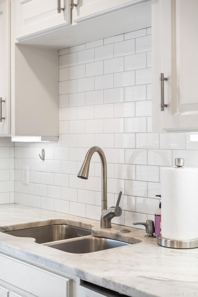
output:
[[[92,235],[122,239],[139,238],[141,243],[88,254],[72,254],[0,232],[0,252],[39,267],[55,269],[132,297],[197,297],[198,248],[170,249],[157,239],[144,238],[145,231],[19,204],[0,205],[0,231],[65,223],[92,228]],[[10,225],[9,227],[5,227]],[[16,229],[20,229],[16,228]],[[130,229],[123,235],[120,230]]]

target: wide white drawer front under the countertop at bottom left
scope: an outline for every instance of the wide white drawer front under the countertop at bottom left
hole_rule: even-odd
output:
[[[71,280],[33,267],[7,256],[0,256],[0,279],[38,297],[69,297]],[[4,297],[4,295],[2,295]]]

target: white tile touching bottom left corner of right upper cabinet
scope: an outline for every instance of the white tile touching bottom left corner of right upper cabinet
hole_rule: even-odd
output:
[[[159,149],[159,134],[137,133],[136,149]]]

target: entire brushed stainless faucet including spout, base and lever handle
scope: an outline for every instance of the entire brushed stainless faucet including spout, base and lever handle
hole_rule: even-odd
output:
[[[100,226],[101,228],[111,228],[111,219],[113,217],[119,217],[122,214],[122,209],[121,207],[119,207],[122,192],[119,193],[116,206],[112,206],[109,209],[107,209],[107,165],[105,154],[99,146],[93,146],[88,150],[83,165],[81,166],[77,176],[80,179],[88,179],[89,164],[95,152],[99,154],[102,164],[102,214]]]

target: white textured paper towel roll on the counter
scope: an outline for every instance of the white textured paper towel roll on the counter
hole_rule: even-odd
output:
[[[161,236],[198,238],[198,168],[161,168]]]

